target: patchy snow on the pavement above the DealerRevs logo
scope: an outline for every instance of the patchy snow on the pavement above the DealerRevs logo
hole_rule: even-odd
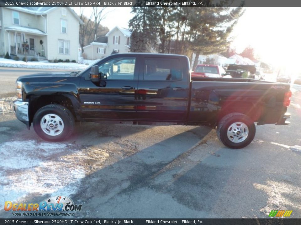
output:
[[[102,149],[73,143],[12,140],[0,144],[0,208],[5,201],[35,196],[67,196],[78,191],[81,179],[108,158]],[[94,162],[92,166],[91,162]]]

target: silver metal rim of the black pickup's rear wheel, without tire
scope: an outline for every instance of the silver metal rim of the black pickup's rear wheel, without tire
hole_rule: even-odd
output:
[[[245,123],[242,122],[232,123],[227,130],[227,136],[233,143],[243,142],[244,140],[246,140],[248,135],[249,128]]]

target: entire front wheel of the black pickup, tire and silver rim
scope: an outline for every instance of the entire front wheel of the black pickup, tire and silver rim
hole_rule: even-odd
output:
[[[74,130],[74,118],[66,107],[51,104],[34,114],[33,126],[40,138],[46,141],[64,141]]]

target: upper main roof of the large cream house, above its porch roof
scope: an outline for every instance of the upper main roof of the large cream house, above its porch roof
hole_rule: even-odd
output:
[[[27,12],[34,15],[45,15],[55,10],[56,8],[61,8],[61,7],[5,7],[5,8],[9,8],[11,10],[17,10],[20,12]],[[73,14],[73,16],[77,18],[80,24],[84,24],[84,22],[82,22],[82,20],[70,7],[66,7],[66,8],[68,8],[69,11]]]

